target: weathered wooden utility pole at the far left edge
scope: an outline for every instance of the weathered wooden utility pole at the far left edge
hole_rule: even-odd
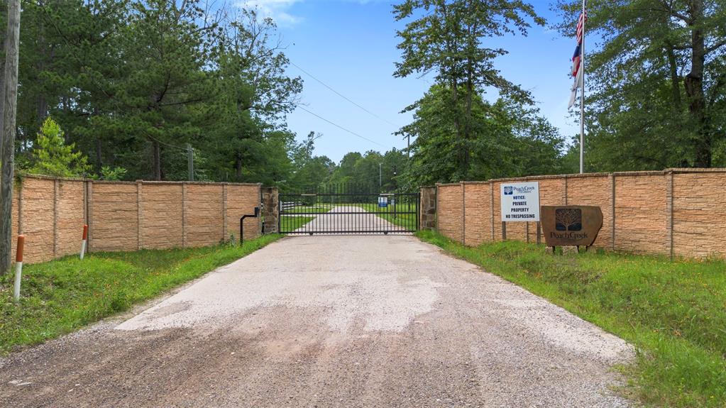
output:
[[[12,263],[12,184],[15,179],[15,113],[17,110],[17,52],[20,43],[20,0],[9,0],[5,42],[0,163],[0,274]]]

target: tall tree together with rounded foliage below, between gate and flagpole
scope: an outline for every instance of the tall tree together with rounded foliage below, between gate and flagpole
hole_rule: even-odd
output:
[[[414,138],[412,184],[551,174],[563,141],[537,115],[531,95],[497,70],[507,54],[489,39],[544,25],[525,1],[405,0],[393,7],[406,21],[394,76],[432,73],[436,83],[404,111],[413,123],[399,135]],[[489,97],[489,99],[487,99]],[[537,172],[537,173],[535,173]]]

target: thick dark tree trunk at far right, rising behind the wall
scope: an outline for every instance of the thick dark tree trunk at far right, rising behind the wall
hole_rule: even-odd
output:
[[[703,0],[691,4],[691,68],[685,77],[691,123],[696,126],[696,167],[711,167],[711,131],[706,120],[706,99],[703,95],[703,65],[706,62],[706,44],[703,38]]]

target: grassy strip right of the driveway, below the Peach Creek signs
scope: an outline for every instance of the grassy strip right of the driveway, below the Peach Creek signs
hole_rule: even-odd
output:
[[[726,261],[552,256],[523,242],[469,248],[430,231],[417,236],[632,343],[637,360],[623,370],[633,398],[658,407],[726,405]]]

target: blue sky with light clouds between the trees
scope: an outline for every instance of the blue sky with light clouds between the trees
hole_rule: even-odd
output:
[[[304,81],[303,108],[373,142],[349,134],[301,108],[287,117],[288,127],[298,134],[298,139],[309,131],[319,132],[322,137],[316,141],[316,154],[327,155],[336,162],[346,152],[405,147],[404,139],[392,135],[399,126],[411,121],[410,113],[400,111],[419,99],[431,82],[413,76],[393,78],[393,63],[400,59],[396,30],[404,28],[404,22],[393,19],[393,1],[249,0],[246,4],[276,21],[291,62],[383,118],[366,113],[290,66],[287,73],[301,76]],[[548,24],[558,19],[550,11],[549,1],[533,0],[531,4]],[[574,39],[564,38],[547,27],[534,26],[527,37],[507,36],[495,41],[494,45],[509,51],[496,62],[505,78],[529,89],[542,114],[563,136],[569,139],[576,134],[579,130],[567,110]]]

